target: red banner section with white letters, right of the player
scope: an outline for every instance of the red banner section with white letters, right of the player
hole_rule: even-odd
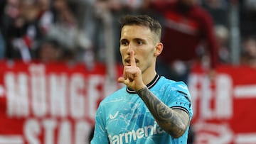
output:
[[[196,67],[189,89],[196,144],[256,143],[256,69],[223,65],[210,81]]]

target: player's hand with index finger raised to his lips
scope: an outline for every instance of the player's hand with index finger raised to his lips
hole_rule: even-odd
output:
[[[146,87],[142,81],[142,70],[136,65],[133,50],[130,53],[130,65],[124,66],[123,77],[119,77],[117,81],[124,83],[129,89],[134,91]]]

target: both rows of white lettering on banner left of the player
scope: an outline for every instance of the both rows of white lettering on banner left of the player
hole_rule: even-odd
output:
[[[44,65],[29,65],[29,72],[6,72],[6,115],[26,118],[23,135],[28,143],[86,143],[97,104],[117,84],[103,74],[48,73]],[[102,87],[102,89],[98,89]],[[55,131],[58,131],[56,134]]]

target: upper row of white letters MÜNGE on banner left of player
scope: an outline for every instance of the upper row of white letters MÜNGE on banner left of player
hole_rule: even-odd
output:
[[[80,73],[48,74],[42,67],[35,67],[31,74],[6,72],[4,82],[7,92],[7,113],[12,117],[57,116],[72,118],[94,118],[97,101],[105,87],[105,76],[101,74],[85,77]],[[114,86],[117,87],[117,86]]]

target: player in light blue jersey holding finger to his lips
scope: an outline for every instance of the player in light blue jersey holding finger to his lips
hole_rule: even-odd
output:
[[[155,70],[164,48],[160,23],[146,15],[127,15],[120,23],[124,72],[118,82],[126,87],[101,101],[91,143],[187,143],[193,115],[188,87]]]

